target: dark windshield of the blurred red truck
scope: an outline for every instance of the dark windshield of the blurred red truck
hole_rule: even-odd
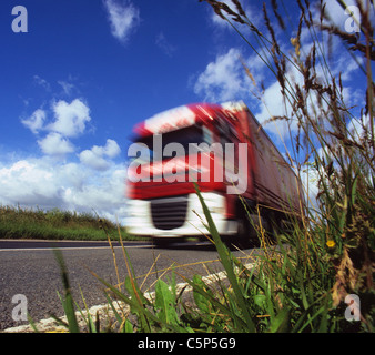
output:
[[[155,154],[154,152],[154,149],[158,149],[158,146],[153,146],[153,143],[154,143],[153,135],[150,135],[146,138],[138,138],[135,140],[135,143],[142,143],[148,146],[146,149],[144,148],[144,145],[140,144],[139,151],[142,151],[143,153],[145,153],[145,150],[148,150],[150,154],[149,156],[151,160],[153,160],[155,156],[163,156],[164,148],[169,143],[180,143],[183,146],[183,151],[185,154],[189,153],[190,144],[194,144],[194,143],[201,144],[205,142],[210,145],[212,143],[212,134],[210,130],[206,129],[205,126],[201,128],[196,125],[192,125],[192,126],[188,126],[181,130],[163,133],[161,134],[161,139],[162,139],[162,152],[158,152],[158,154]],[[174,156],[176,155],[179,155],[179,152],[175,152]],[[135,158],[135,160],[142,163],[142,161],[140,161],[140,158]]]

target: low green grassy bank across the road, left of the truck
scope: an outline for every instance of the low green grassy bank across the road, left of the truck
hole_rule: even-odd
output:
[[[93,213],[0,206],[0,239],[107,241],[115,237],[116,225]],[[125,239],[131,239],[122,227]]]

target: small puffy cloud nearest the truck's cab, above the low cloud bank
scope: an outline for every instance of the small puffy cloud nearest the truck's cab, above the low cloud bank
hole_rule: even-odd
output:
[[[121,152],[119,144],[113,140],[107,140],[104,146],[94,145],[91,150],[85,150],[80,153],[79,158],[81,163],[92,169],[104,171],[110,168],[110,162],[104,159],[115,158]]]

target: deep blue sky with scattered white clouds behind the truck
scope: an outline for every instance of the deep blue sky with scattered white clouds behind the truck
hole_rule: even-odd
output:
[[[260,24],[262,2],[243,3]],[[12,31],[16,4],[28,11],[28,32]],[[327,7],[344,26],[347,16]],[[282,110],[275,79],[197,0],[1,0],[0,45],[0,204],[121,219],[136,122],[200,101],[243,100],[261,122]],[[240,58],[265,83],[267,109]],[[333,60],[355,103],[357,67],[346,55]]]

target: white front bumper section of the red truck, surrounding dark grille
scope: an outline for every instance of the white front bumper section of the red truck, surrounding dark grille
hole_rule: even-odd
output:
[[[225,217],[225,196],[202,193],[202,196],[221,235],[237,233],[237,222]],[[178,212],[185,209],[185,212]],[[204,236],[206,219],[196,194],[158,200],[130,200],[128,232],[138,236],[184,237]],[[178,226],[173,226],[173,223]]]

